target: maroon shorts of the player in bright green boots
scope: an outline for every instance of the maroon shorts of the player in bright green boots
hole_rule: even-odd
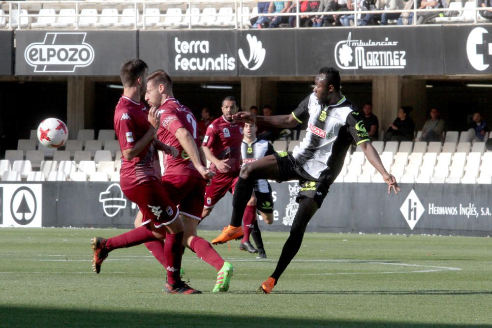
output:
[[[162,177],[166,193],[180,209],[180,213],[197,220],[202,218],[203,195],[207,181],[202,178],[169,175]]]

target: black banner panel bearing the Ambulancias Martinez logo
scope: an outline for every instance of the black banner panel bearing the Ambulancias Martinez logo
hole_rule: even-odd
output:
[[[342,75],[442,74],[442,29],[314,29],[296,31],[296,75],[333,66]]]

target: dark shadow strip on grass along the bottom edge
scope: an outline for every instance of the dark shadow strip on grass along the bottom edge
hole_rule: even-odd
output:
[[[199,297],[197,297],[197,301],[199,301],[198,299]],[[189,314],[169,312],[165,309],[159,312],[131,312],[0,306],[0,313],[0,327],[462,327],[462,325],[440,325],[436,323],[309,320],[296,318],[295,315],[291,318],[278,318],[246,314],[245,316]],[[486,325],[467,325],[467,327],[486,327]]]

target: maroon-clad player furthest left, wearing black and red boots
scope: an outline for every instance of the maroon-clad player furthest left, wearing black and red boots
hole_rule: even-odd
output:
[[[122,149],[120,185],[125,196],[143,212],[143,224],[122,235],[92,239],[92,268],[100,272],[101,264],[114,249],[145,242],[163,240],[167,263],[167,283],[164,292],[171,294],[201,294],[180,278],[184,225],[179,210],[169,200],[162,187],[160,170],[154,165],[156,147],[172,152],[172,148],[155,140],[159,127],[157,108],[147,111],[140,101],[146,90],[147,64],[139,59],[123,63],[120,76],[123,96],[116,106],[115,132]]]

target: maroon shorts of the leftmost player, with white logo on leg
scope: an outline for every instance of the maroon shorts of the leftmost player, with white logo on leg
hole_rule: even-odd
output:
[[[136,187],[123,190],[123,193],[137,204],[142,212],[142,225],[152,221],[156,228],[160,228],[173,222],[180,214],[158,180],[145,181]]]

